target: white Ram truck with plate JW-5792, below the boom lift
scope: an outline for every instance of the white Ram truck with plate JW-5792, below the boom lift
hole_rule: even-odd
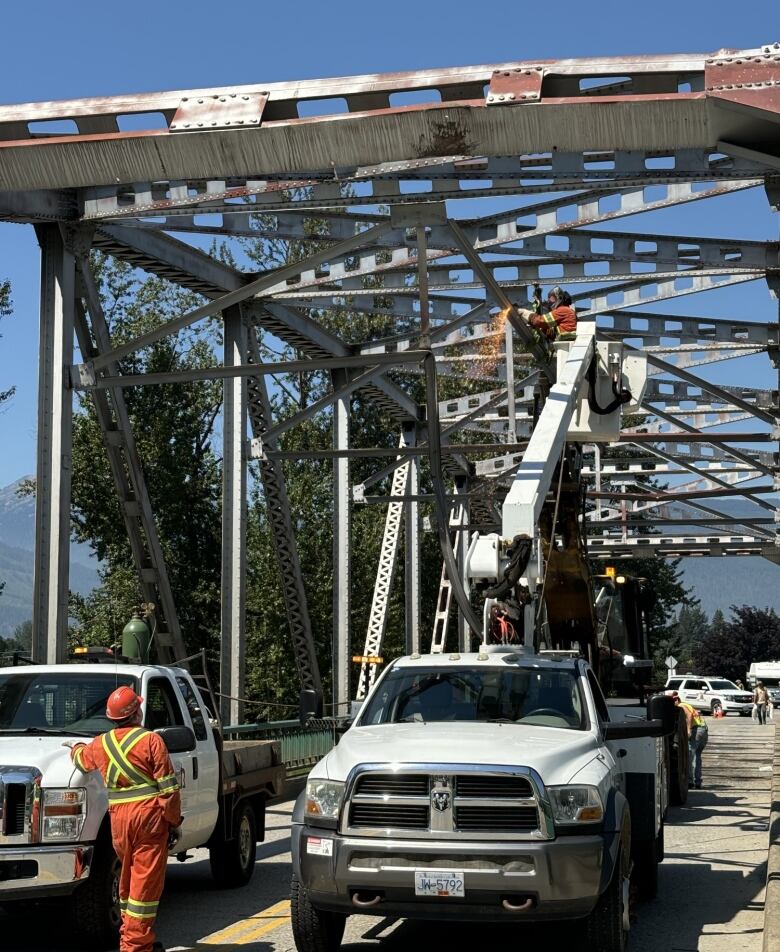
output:
[[[571,656],[485,648],[388,666],[293,815],[299,952],[350,913],[464,921],[582,918],[622,950],[632,862],[663,858],[668,698],[608,707]]]

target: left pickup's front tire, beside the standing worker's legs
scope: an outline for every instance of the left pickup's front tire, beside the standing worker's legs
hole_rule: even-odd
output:
[[[85,948],[115,949],[119,944],[121,869],[111,841],[98,841],[89,877],[68,902],[73,931]]]

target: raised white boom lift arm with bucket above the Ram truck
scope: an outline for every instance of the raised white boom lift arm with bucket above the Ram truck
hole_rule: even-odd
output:
[[[576,339],[555,350],[557,382],[504,501],[501,535],[473,536],[465,575],[485,595],[484,642],[576,645],[598,669],[598,626],[579,520],[580,444],[617,440],[622,410],[642,400],[646,364],[624,355],[619,343],[597,340],[594,321],[580,321]]]

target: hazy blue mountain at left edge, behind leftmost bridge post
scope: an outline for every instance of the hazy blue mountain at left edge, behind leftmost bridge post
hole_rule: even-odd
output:
[[[22,480],[0,489],[0,637],[32,618],[35,499],[19,496]],[[89,546],[70,547],[70,587],[86,594],[98,584],[98,561]]]

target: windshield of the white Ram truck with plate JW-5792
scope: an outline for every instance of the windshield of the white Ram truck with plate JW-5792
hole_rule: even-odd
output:
[[[548,668],[403,668],[390,671],[360,725],[505,721],[584,730],[585,704],[574,671]]]

